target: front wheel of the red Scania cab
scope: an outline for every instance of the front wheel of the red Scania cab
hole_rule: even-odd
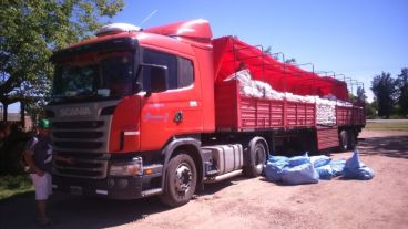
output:
[[[197,170],[194,160],[181,152],[169,163],[164,190],[160,200],[169,207],[185,205],[193,197],[196,184]]]

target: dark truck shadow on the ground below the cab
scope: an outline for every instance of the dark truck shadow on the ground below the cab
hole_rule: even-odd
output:
[[[205,185],[196,197],[213,195],[235,181],[234,177],[217,184]],[[110,200],[68,194],[53,194],[49,201],[50,215],[58,223],[50,228],[108,228],[126,225],[160,214],[171,208],[163,206],[157,197],[136,200]],[[40,228],[35,225],[34,192],[18,195],[0,201],[0,228]]]

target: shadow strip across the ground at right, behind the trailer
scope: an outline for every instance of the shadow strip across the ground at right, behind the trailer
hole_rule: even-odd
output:
[[[360,155],[381,155],[408,159],[408,136],[370,137],[359,140]]]

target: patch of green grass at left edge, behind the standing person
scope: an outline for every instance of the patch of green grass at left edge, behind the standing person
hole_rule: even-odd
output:
[[[0,200],[33,190],[34,187],[27,174],[0,176]]]

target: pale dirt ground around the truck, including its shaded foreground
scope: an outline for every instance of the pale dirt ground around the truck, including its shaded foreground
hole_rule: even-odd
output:
[[[368,181],[333,179],[282,186],[263,177],[206,185],[187,205],[156,198],[103,200],[54,194],[53,228],[408,228],[408,132],[364,131],[360,160]],[[348,158],[351,152],[332,154]],[[0,228],[37,228],[33,194],[0,201]]]

